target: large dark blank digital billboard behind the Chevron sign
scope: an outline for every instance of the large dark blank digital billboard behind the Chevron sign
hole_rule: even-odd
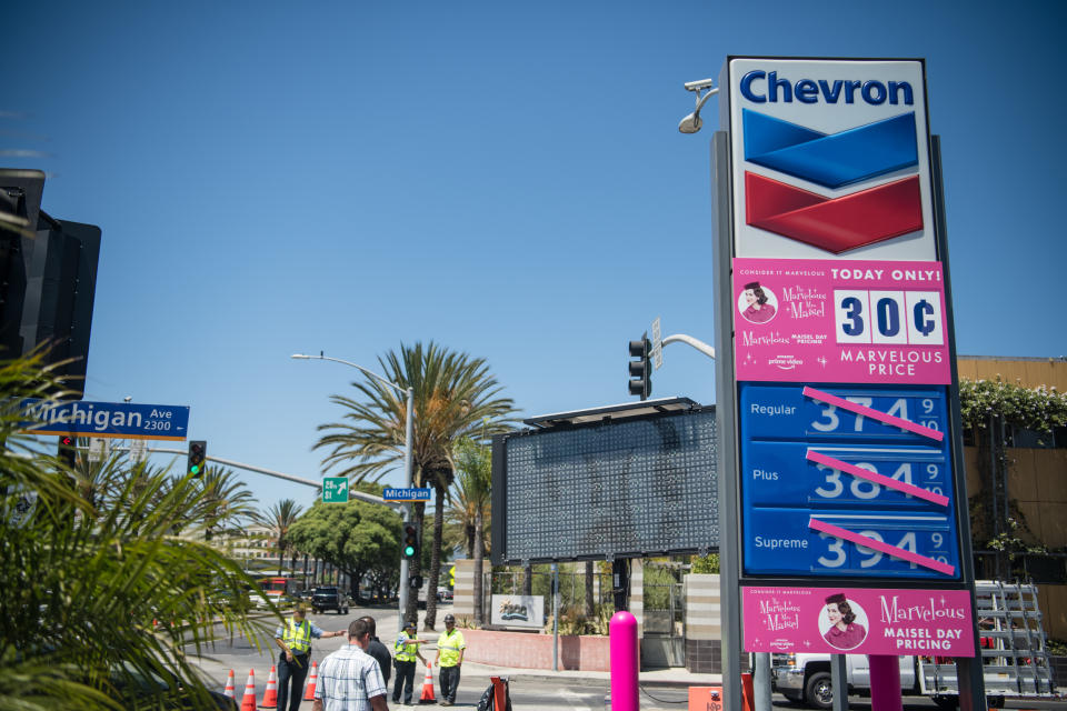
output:
[[[493,441],[493,564],[698,553],[719,544],[715,408]]]

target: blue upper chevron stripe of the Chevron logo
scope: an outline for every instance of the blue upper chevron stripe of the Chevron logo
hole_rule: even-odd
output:
[[[742,122],[745,160],[827,188],[919,162],[914,111],[829,136],[749,109]]]

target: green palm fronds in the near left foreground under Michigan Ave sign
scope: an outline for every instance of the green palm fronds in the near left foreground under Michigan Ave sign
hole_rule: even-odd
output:
[[[0,362],[0,711],[131,708],[123,694],[138,685],[158,697],[144,707],[174,708],[164,697],[177,691],[191,697],[182,707],[215,708],[192,665],[213,618],[256,631],[209,594],[237,597],[255,582],[196,535],[173,535],[216,521],[199,518],[198,481],[109,464],[82,472],[89,485],[79,487],[62,460],[20,433],[18,403],[54,387],[37,359]],[[90,493],[91,502],[81,495]],[[170,691],[144,683],[158,678],[173,682]]]

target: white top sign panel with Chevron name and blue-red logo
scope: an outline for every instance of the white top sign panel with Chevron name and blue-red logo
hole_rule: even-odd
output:
[[[727,63],[735,253],[934,260],[919,60]]]

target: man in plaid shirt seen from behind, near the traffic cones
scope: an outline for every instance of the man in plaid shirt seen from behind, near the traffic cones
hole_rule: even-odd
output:
[[[348,645],[319,664],[311,711],[389,711],[386,682],[378,660],[367,653],[370,628],[366,620],[348,625]]]

